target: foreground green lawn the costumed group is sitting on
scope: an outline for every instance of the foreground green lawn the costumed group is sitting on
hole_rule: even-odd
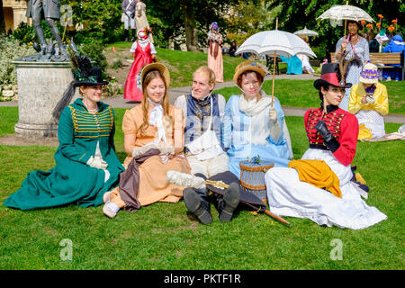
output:
[[[121,121],[115,109],[115,143],[124,158]],[[14,132],[16,107],[0,107],[0,137]],[[308,147],[302,117],[286,117],[295,158]],[[386,123],[387,132],[400,124]],[[103,215],[102,206],[74,205],[18,211],[0,206],[0,269],[404,269],[403,151],[401,141],[358,143],[353,164],[371,188],[369,205],[388,220],[368,229],[320,227],[311,220],[240,211],[229,223],[201,225],[184,202],[155,203],[137,212]],[[0,202],[14,193],[33,169],[54,166],[55,147],[0,145]],[[400,157],[399,157],[400,156]],[[333,239],[343,259],[332,260]],[[62,260],[62,239],[72,241],[72,260]]]

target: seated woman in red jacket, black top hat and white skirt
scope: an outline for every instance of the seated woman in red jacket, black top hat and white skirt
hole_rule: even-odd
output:
[[[310,148],[289,167],[266,173],[270,211],[280,216],[308,218],[318,225],[365,229],[387,216],[368,206],[352,184],[350,164],[356,155],[356,116],[338,107],[351,84],[338,63],[324,64],[320,79],[320,107],[305,112]]]

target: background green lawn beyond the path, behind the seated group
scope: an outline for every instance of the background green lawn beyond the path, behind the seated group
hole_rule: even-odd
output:
[[[105,48],[110,51],[112,46],[118,54],[113,56],[122,58],[132,58],[130,53],[130,42],[116,42]],[[107,53],[108,54],[108,53]],[[164,63],[170,70],[171,87],[189,86],[193,82],[193,71],[200,66],[207,65],[207,54],[202,52],[184,52],[180,50],[171,50],[157,48],[157,59]],[[223,56],[224,81],[232,81],[235,67],[245,59]],[[266,64],[265,61],[262,61]],[[280,64],[282,74],[286,73],[286,64]],[[383,82],[387,86],[388,99],[390,102],[390,113],[405,114],[405,81]],[[266,81],[263,88],[266,94],[272,92],[272,81]],[[232,94],[240,94],[238,87],[228,87],[217,89],[215,92],[223,94],[226,99]],[[320,104],[317,90],[313,87],[312,80],[294,80],[294,79],[277,79],[275,80],[275,96],[280,100],[283,106],[310,108]]]

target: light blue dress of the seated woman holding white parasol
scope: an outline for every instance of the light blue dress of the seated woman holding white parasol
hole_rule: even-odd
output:
[[[266,97],[269,97],[265,94]],[[249,135],[249,126],[253,116],[247,115],[239,110],[239,98],[242,95],[232,95],[225,106],[225,113],[221,123],[221,142],[224,148],[229,148],[229,171],[240,177],[239,162],[248,158],[260,157],[260,160],[266,160],[275,163],[275,166],[286,167],[290,162],[290,150],[287,145],[287,139],[284,135],[284,111],[280,102],[275,98],[274,108],[277,112],[277,124],[280,126],[281,134],[278,139],[273,139],[271,135],[264,136],[263,144],[254,144]],[[265,108],[266,115],[269,114],[270,104]],[[266,125],[270,127],[271,121],[266,117]],[[263,127],[263,125],[262,125]],[[250,131],[255,131],[252,127]],[[257,131],[257,129],[256,129]],[[268,131],[263,131],[263,135]]]

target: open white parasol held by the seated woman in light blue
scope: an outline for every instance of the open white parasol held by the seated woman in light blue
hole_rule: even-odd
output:
[[[235,54],[249,52],[256,54],[257,56],[263,56],[270,53],[275,54],[273,65],[272,106],[275,94],[275,58],[277,55],[290,58],[291,56],[300,53],[308,55],[311,58],[317,57],[304,40],[293,33],[277,30],[277,26],[278,18],[275,22],[275,30],[261,31],[250,36],[235,52]]]

